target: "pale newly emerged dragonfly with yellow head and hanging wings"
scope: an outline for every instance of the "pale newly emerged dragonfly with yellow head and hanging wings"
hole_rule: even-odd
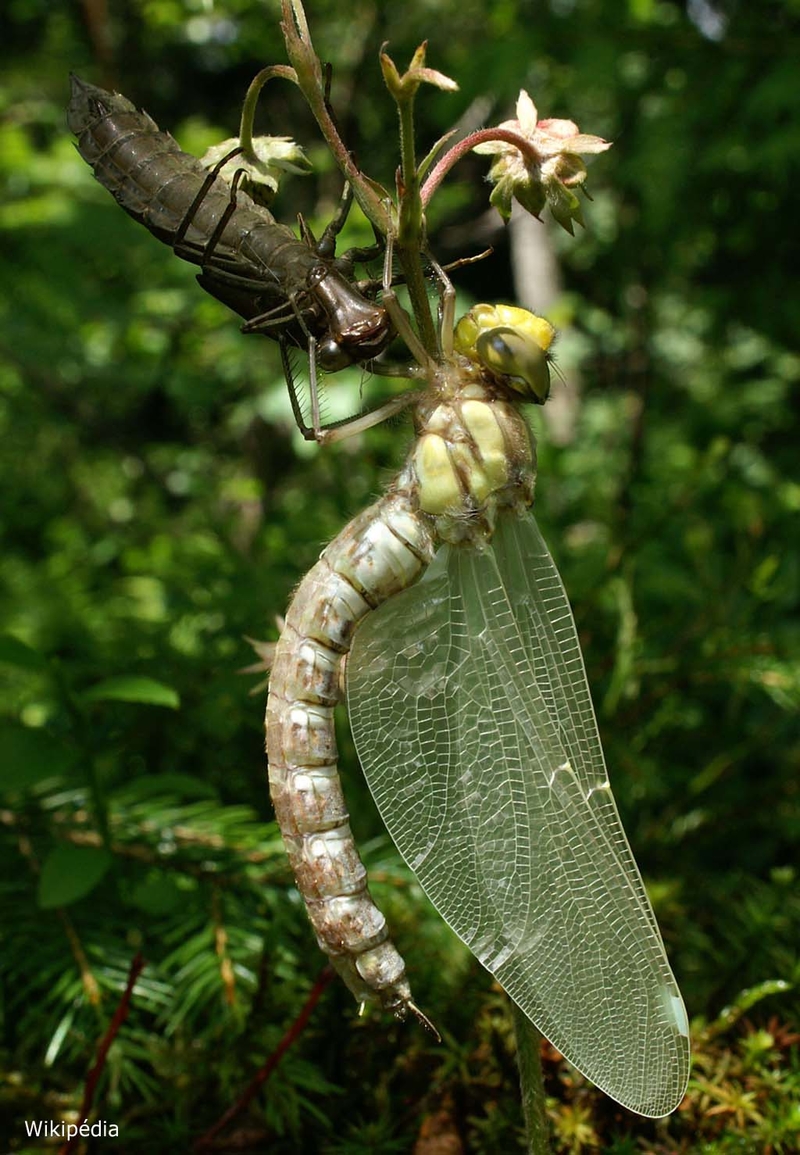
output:
[[[267,752],[287,856],[356,999],[429,1024],[349,826],[334,733],[344,663],[366,781],[433,906],[574,1066],[657,1118],[686,1089],[686,1009],[531,512],[521,407],[547,398],[554,330],[514,306],[455,325],[438,269],[432,356],[391,288],[390,249],[383,305],[414,358],[416,438],[301,581],[271,654]]]

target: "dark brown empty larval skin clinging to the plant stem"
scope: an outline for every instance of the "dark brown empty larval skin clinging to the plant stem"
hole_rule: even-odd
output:
[[[97,180],[134,221],[200,266],[200,285],[245,318],[242,331],[281,342],[300,431],[308,440],[336,440],[341,423],[324,425],[320,417],[317,366],[334,372],[368,364],[392,337],[386,308],[352,278],[353,263],[373,251],[327,255],[350,208],[349,188],[319,245],[309,232],[301,240],[235,180],[223,178],[230,155],[207,170],[126,97],[75,75],[70,82],[67,120]],[[309,353],[311,424],[293,387],[289,352],[298,345]]]

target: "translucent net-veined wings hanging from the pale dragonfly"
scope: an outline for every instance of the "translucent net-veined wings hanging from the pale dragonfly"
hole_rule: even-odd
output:
[[[532,516],[501,519],[485,551],[443,547],[364,619],[347,703],[387,829],[447,923],[598,1087],[673,1110],[686,1011]]]

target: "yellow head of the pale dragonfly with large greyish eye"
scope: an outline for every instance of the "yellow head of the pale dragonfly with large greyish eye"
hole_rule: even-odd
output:
[[[549,396],[555,329],[514,305],[476,305],[456,326],[455,349],[518,394],[543,405]]]

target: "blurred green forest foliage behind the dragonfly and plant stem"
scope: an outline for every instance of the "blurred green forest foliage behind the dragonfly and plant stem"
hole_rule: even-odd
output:
[[[615,141],[590,173],[586,231],[554,238],[552,316],[582,383],[566,444],[534,417],[538,511],[697,1060],[685,1108],[649,1123],[549,1056],[554,1149],[794,1150],[800,5],[313,0],[308,14],[345,139],[377,179],[396,164],[386,39],[403,62],[427,38],[461,84],[420,99],[420,154],[473,102],[507,119],[519,88],[540,116]],[[275,636],[410,433],[306,447],[271,343],[242,337],[113,204],[65,126],[74,69],[192,151],[232,135],[253,74],[284,60],[275,2],[25,0],[0,30],[0,1132],[39,1149],[23,1118],[74,1116],[141,951],[97,1113],[120,1125],[117,1150],[182,1150],[322,964],[272,822],[244,635]],[[261,119],[317,164],[278,215],[323,223],[339,180],[298,95],[270,85]],[[434,204],[441,260],[484,247],[485,169],[465,162]],[[345,244],[366,239],[354,223]],[[491,239],[495,256],[458,275],[465,306],[513,299],[507,243]],[[352,411],[360,386],[331,382],[331,407]],[[439,1128],[463,1150],[519,1149],[502,998],[398,863],[344,718],[341,745],[373,891],[444,1045],[357,1020],[334,985],[237,1138],[426,1155]]]

